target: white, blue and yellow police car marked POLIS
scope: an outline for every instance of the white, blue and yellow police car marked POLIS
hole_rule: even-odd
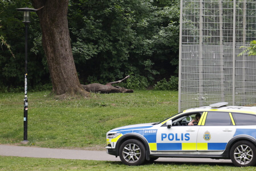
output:
[[[231,159],[235,166],[256,164],[256,107],[220,102],[185,110],[157,123],[107,132],[107,153],[127,165],[159,157]],[[199,116],[199,121],[196,120]],[[193,123],[193,126],[191,123]]]

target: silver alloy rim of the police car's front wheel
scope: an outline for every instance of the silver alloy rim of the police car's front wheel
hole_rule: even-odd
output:
[[[123,148],[123,158],[129,162],[137,162],[141,157],[141,149],[136,144],[127,144]]]

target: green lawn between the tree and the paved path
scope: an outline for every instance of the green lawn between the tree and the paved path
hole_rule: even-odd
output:
[[[158,122],[178,112],[177,91],[92,93],[58,100],[50,91],[28,94],[27,145],[104,150],[110,129]],[[0,93],[0,143],[23,141],[23,93]]]

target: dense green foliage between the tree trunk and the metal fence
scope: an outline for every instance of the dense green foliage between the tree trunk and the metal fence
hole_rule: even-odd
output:
[[[132,73],[124,86],[141,88],[174,73],[169,63],[178,58],[179,1],[159,4],[70,1],[69,27],[80,81],[106,83]]]

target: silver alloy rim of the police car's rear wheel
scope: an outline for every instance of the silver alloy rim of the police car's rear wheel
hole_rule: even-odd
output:
[[[235,161],[239,164],[248,164],[253,158],[253,151],[247,145],[239,145],[234,151]]]

